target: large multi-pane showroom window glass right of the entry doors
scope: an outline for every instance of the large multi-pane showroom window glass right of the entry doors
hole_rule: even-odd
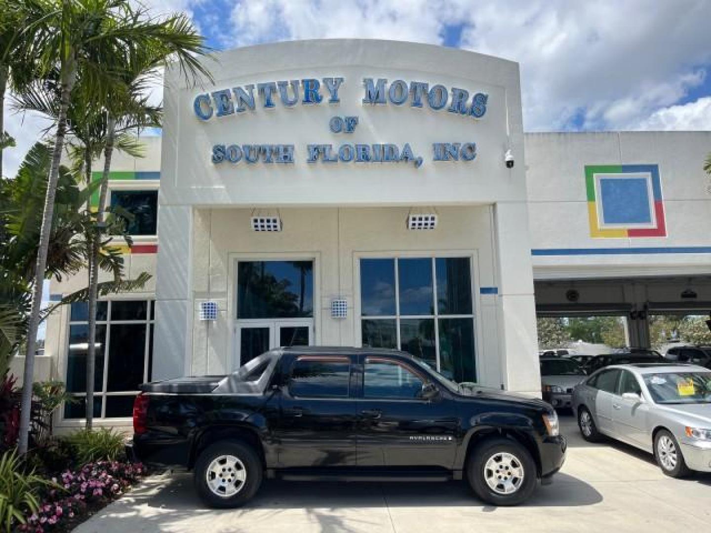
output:
[[[363,346],[400,348],[476,381],[469,257],[360,259]]]

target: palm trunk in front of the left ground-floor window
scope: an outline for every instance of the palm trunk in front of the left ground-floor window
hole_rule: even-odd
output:
[[[114,152],[114,136],[116,133],[116,122],[109,117],[107,121],[106,146],[104,148],[104,172],[101,177],[101,188],[99,193],[99,206],[96,213],[97,232],[92,242],[92,257],[90,264],[90,284],[89,284],[89,346],[87,349],[87,411],[86,429],[92,429],[94,419],[94,369],[96,366],[96,302],[99,289],[99,244],[102,241],[102,229],[104,224],[104,214],[106,197],[109,190],[109,172],[111,171],[111,157]],[[103,347],[104,350],[106,349]],[[107,364],[107,361],[104,362]]]

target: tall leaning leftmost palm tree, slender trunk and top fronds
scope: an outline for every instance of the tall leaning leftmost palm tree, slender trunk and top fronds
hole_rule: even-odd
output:
[[[102,106],[107,104],[107,99],[112,95],[112,87],[120,83],[115,72],[120,69],[124,50],[131,46],[154,48],[158,43],[163,43],[169,55],[180,62],[186,75],[188,72],[206,74],[196,56],[205,53],[206,49],[203,39],[185,16],[171,16],[163,20],[151,18],[144,9],[133,9],[127,0],[25,2],[28,20],[34,29],[23,55],[36,58],[36,74],[39,78],[50,72],[58,72],[60,87],[57,128],[28,324],[24,379],[31,382],[59,164],[67,132],[67,112],[77,80],[81,77],[85,90],[93,95],[97,106]],[[31,387],[23,387],[18,440],[21,454],[27,451],[31,399]]]

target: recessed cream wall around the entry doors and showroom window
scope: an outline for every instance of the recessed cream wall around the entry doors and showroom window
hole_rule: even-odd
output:
[[[280,210],[282,232],[249,229],[248,209],[199,209],[193,219],[193,313],[204,300],[218,302],[218,321],[196,321],[189,373],[221,374],[236,367],[235,262],[238,259],[314,259],[316,345],[360,345],[362,257],[471,257],[477,370],[481,382],[500,387],[503,367],[496,296],[479,294],[495,286],[491,208],[439,208],[436,232],[405,228],[407,208],[319,208]],[[384,230],[387,228],[387,231]],[[346,298],[348,317],[331,318],[332,298]]]

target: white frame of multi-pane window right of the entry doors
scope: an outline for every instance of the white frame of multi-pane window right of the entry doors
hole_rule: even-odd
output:
[[[471,314],[464,315],[440,315],[437,306],[437,276],[435,272],[434,259],[445,259],[448,257],[466,257],[469,259],[469,268],[471,275]],[[394,259],[395,260],[395,315],[388,316],[362,316],[362,302],[360,301],[360,260],[361,259]],[[433,291],[433,307],[434,314],[432,315],[400,315],[400,283],[399,269],[397,268],[397,259],[430,259],[432,263],[432,291]],[[355,301],[355,320],[353,321],[354,338],[358,342],[358,346],[363,346],[363,320],[395,320],[395,335],[397,347],[400,349],[400,320],[413,319],[433,319],[434,320],[434,349],[435,357],[437,357],[437,372],[440,371],[439,357],[439,318],[471,318],[474,321],[474,372],[476,379],[481,375],[481,347],[482,347],[482,332],[481,332],[481,301],[479,298],[479,257],[476,250],[447,250],[447,251],[416,251],[406,250],[402,252],[355,252],[353,254],[353,295]]]

